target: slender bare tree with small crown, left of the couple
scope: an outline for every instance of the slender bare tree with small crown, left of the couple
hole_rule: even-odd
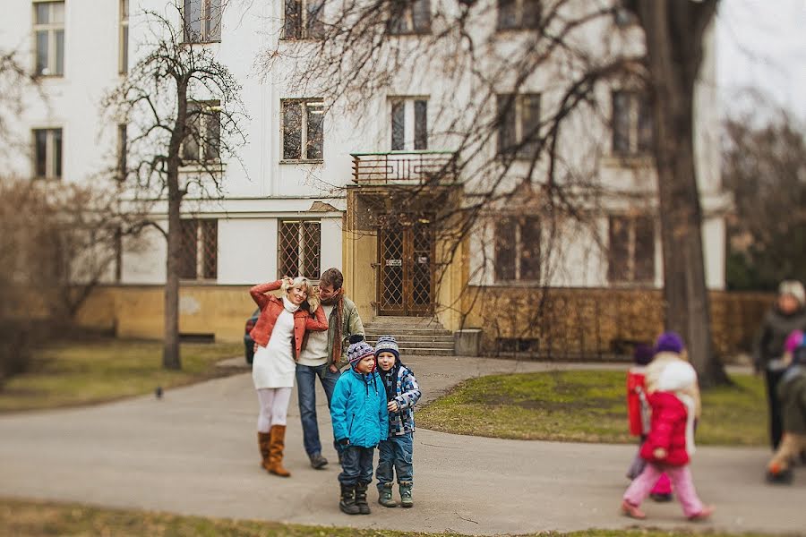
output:
[[[110,93],[105,107],[128,137],[124,201],[167,201],[165,342],[163,366],[181,369],[179,356],[179,266],[182,201],[220,197],[227,160],[239,162],[245,143],[241,85],[209,47],[194,43],[194,21],[183,20],[180,4],[167,14],[145,13],[150,39],[125,80]],[[176,21],[183,21],[177,23]],[[188,38],[188,37],[191,38]]]

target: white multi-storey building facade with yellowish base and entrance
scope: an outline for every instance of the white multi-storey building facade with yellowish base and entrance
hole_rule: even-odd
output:
[[[494,71],[534,30],[529,17],[540,15],[530,14],[527,0],[483,4],[469,28],[485,44],[479,70]],[[227,65],[243,86],[249,115],[240,164],[226,163],[223,196],[191,193],[183,203],[184,334],[236,340],[253,308],[248,286],[284,275],[317,280],[337,267],[364,320],[425,316],[450,330],[482,328],[487,350],[556,346],[547,342],[558,330],[579,340],[575,335],[593,331],[593,319],[606,318],[605,310],[637,303],[642,309],[616,315],[618,327],[596,328],[600,335],[579,350],[602,352],[616,340],[651,337],[660,322],[663,263],[648,157],[651,124],[635,84],[625,77],[603,81],[593,93],[596,112],[570,115],[558,136],[557,161],[573,170],[568,177],[588,178],[579,184],[595,183],[596,200],[580,201],[584,218],[549,222],[541,193],[548,165],[531,158],[536,149],[524,141],[560,106],[562,81],[573,76],[562,57],[517,84],[501,76],[482,88],[456,67],[456,78],[446,77],[441,69],[453,53],[435,43],[429,61],[405,56],[356,107],[355,99],[318,91],[325,81],[298,81],[304,47],[315,54],[318,32],[325,31],[317,26],[317,17],[328,13],[322,5],[13,2],[0,21],[0,47],[30,58],[47,104],[31,96],[16,129],[30,140],[30,154],[10,157],[6,168],[43,181],[107,180],[100,172],[120,158],[131,132],[101,114],[99,103],[147,54],[153,40],[148,13],[160,13],[184,27],[188,46],[207,47]],[[391,31],[390,39],[399,39],[395,47],[432,38],[441,8],[421,0],[404,9]],[[630,21],[606,19],[585,32],[596,47],[642,47]],[[725,287],[726,203],[712,36],[696,96],[696,164],[707,285],[719,291]],[[484,90],[488,95],[480,97]],[[487,109],[497,118],[492,135],[467,146],[467,132]],[[500,171],[495,159],[506,144],[517,146],[516,154]],[[579,184],[568,183],[569,190],[579,193]],[[491,200],[483,209],[468,210],[484,196]],[[166,221],[159,210],[154,217]],[[146,231],[136,249],[124,242],[119,267],[110,268],[81,320],[124,337],[161,337],[166,250],[157,231]],[[548,294],[546,302],[541,297]],[[595,296],[600,300],[591,303]],[[509,313],[536,310],[536,303],[539,316]],[[544,303],[550,304],[543,309]]]

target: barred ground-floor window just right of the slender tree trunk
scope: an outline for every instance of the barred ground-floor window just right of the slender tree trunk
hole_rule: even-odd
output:
[[[219,270],[219,221],[180,220],[179,277],[214,280]]]

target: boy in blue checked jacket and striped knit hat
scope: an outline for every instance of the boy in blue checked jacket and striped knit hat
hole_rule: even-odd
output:
[[[387,408],[389,409],[389,438],[378,445],[381,456],[378,459],[378,503],[383,507],[396,507],[392,499],[394,473],[398,474],[400,506],[412,507],[411,487],[414,484],[412,465],[415,431],[414,406],[420,399],[420,387],[414,373],[400,362],[398,341],[391,336],[378,338],[375,345],[375,358],[378,372],[386,387]]]

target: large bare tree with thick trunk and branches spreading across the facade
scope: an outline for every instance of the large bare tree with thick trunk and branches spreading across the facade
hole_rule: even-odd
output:
[[[429,135],[455,149],[443,176],[467,177],[469,193],[460,209],[442,213],[454,229],[459,222],[454,252],[484,219],[494,223],[518,203],[524,188],[534,202],[523,211],[544,218],[555,260],[568,243],[561,238],[564,223],[594,226],[619,196],[654,207],[654,195],[604,181],[598,157],[613,126],[601,106],[603,89],[617,81],[647,95],[650,112],[637,113],[648,120],[641,128],[654,132],[647,144],[654,159],[643,167],[657,176],[665,325],[683,334],[709,385],[725,373],[710,341],[693,101],[716,4],[343,0],[309,1],[300,12],[301,3],[288,2],[279,45],[262,61],[266,73],[290,72],[292,90],[328,98],[334,113],[343,107],[371,116],[373,96],[390,88],[416,92],[426,77],[439,78],[444,94],[434,98],[440,107],[428,120],[438,126]],[[542,88],[539,105],[519,98],[535,87]],[[502,128],[525,109],[539,113],[515,131]],[[412,196],[433,186],[425,183]],[[552,264],[551,251],[541,255]],[[542,311],[546,295],[533,311]]]

